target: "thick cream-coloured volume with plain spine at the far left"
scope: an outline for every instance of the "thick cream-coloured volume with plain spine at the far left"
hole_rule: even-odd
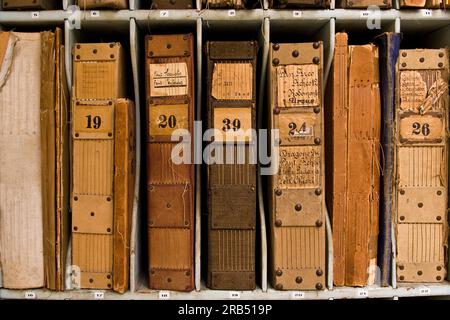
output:
[[[8,289],[45,285],[42,52],[40,33],[0,32],[0,264]]]

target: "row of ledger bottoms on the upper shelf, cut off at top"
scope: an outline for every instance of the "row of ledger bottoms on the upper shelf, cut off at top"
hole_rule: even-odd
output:
[[[128,0],[76,0],[82,9],[123,10],[129,8]],[[445,9],[449,0],[399,0],[401,8]],[[201,9],[257,9],[262,8],[258,0],[202,0]],[[364,9],[377,6],[382,9],[395,7],[392,0],[338,0],[336,8]],[[192,9],[195,0],[147,0],[141,9]],[[273,9],[330,8],[330,0],[270,0]],[[3,10],[55,10],[62,8],[61,0],[2,0]]]

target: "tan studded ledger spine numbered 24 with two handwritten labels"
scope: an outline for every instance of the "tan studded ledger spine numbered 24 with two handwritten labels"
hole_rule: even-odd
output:
[[[271,282],[277,290],[325,289],[325,159],[322,42],[272,44],[271,128],[278,172],[270,176]]]

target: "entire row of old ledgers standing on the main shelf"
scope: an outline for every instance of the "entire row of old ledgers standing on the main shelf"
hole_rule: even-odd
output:
[[[62,43],[0,33],[2,287],[125,292],[140,242],[150,289],[194,290],[201,257],[209,288],[252,290],[261,238],[277,290],[447,278],[447,49],[337,33],[325,81],[321,41],[272,43],[258,88],[257,41],[206,42],[203,76],[192,34],[148,35],[139,110],[125,47],[74,44],[68,86]]]

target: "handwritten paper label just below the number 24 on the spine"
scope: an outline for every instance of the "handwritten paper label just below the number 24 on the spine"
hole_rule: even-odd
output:
[[[320,147],[280,147],[278,186],[314,188],[320,183]]]

